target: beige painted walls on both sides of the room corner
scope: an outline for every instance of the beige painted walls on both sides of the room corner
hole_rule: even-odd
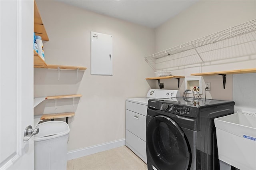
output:
[[[76,115],[69,121],[69,151],[125,138],[125,99],[145,96],[156,82],[145,80],[154,71],[144,56],[256,18],[255,1],[199,1],[153,30],[56,1],[36,2],[50,39],[44,43],[46,63],[88,68],[78,73],[78,81],[74,71],[61,71],[58,81],[56,70],[34,69],[35,97],[83,95],[79,103],[75,101]],[[90,75],[91,31],[113,36],[113,76]],[[172,74],[189,77],[201,71],[244,67],[256,67],[255,60],[176,69]],[[178,89],[176,79],[161,82],[165,89]],[[207,98],[232,100],[232,75],[227,75],[226,89],[219,75],[203,77],[204,82],[212,88]],[[181,93],[184,87],[181,79]],[[46,102],[38,108],[54,113],[54,102]],[[72,100],[58,100],[57,105],[57,111],[68,111],[62,105],[72,107]],[[38,108],[35,112],[41,111]]]

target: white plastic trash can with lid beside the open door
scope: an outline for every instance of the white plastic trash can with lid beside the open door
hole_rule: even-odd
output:
[[[34,169],[66,170],[70,128],[63,121],[48,121],[36,126],[34,136]]]

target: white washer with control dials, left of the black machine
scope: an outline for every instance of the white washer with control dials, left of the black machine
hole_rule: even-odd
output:
[[[126,99],[126,146],[147,163],[146,116],[149,99],[180,97],[178,90],[150,89],[146,97]]]

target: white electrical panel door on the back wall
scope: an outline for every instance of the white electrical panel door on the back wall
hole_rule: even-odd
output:
[[[113,75],[112,36],[91,32],[91,75]]]

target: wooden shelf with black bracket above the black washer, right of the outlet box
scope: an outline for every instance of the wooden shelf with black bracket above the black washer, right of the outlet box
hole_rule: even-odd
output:
[[[216,72],[207,72],[207,73],[194,73],[191,75],[199,75],[199,76],[222,75],[223,88],[225,89],[227,74],[244,74],[244,73],[256,73],[256,68],[239,69],[239,70],[231,70],[231,71],[216,71]]]

